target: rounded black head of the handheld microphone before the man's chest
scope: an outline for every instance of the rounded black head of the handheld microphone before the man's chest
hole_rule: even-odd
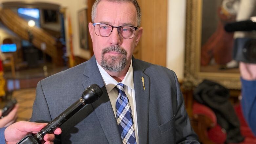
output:
[[[95,102],[102,95],[102,90],[97,84],[89,86],[82,94],[82,98],[85,100],[85,104]]]

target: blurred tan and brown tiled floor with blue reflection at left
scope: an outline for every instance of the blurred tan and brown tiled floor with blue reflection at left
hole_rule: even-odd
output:
[[[67,67],[54,67],[47,64],[47,75],[45,75],[43,66],[38,66],[37,68],[16,71],[15,78],[11,76],[11,72],[5,72],[4,77],[7,81],[8,91],[12,92],[7,99],[15,98],[19,104],[17,121],[28,121],[31,118],[37,82],[66,69]],[[0,101],[0,108],[5,105],[6,101],[5,99]]]

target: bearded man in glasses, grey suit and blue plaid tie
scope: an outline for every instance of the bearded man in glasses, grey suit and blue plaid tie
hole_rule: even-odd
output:
[[[38,83],[31,121],[51,121],[96,83],[103,95],[61,126],[63,143],[199,143],[174,72],[132,57],[140,17],[136,0],[96,0],[95,55]]]

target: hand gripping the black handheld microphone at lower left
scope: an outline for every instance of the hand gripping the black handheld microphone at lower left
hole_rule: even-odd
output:
[[[19,121],[16,122],[5,129],[5,140],[6,144],[16,144],[27,134],[33,133],[36,134],[42,128],[44,128],[47,123],[35,123],[28,121]],[[57,128],[54,131],[54,134],[61,134],[61,129]],[[54,134],[46,134],[44,136],[44,144],[53,144],[55,138]]]

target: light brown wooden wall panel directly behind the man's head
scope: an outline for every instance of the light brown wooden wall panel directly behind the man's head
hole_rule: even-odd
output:
[[[166,66],[167,0],[137,0],[141,8],[142,38],[134,56]]]

